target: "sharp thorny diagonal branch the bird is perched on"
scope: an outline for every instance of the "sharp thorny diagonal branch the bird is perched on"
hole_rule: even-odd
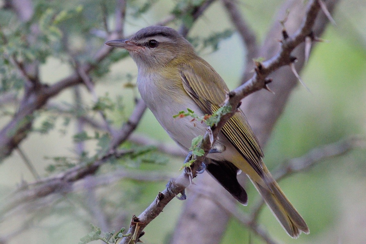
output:
[[[131,222],[130,229],[127,233],[137,234],[137,240],[143,234],[142,230],[145,228],[150,221],[152,221],[158,214],[161,213],[163,208],[166,206],[170,200],[174,198],[175,195],[178,195],[190,184],[190,177],[194,178],[196,176],[195,170],[198,169],[199,165],[203,162],[212,145],[215,143],[217,135],[219,134],[221,128],[224,124],[233,116],[240,106],[240,101],[246,97],[247,95],[254,93],[255,91],[261,90],[263,88],[268,89],[267,84],[271,82],[268,79],[268,75],[277,70],[278,68],[284,65],[290,65],[295,61],[295,58],[291,56],[292,50],[296,48],[299,44],[305,41],[305,38],[311,34],[312,27],[315,22],[315,18],[320,10],[320,4],[317,0],[310,1],[307,5],[307,13],[301,26],[298,31],[292,36],[289,36],[287,32],[284,31],[283,40],[281,40],[281,49],[280,51],[271,59],[263,62],[257,63],[255,68],[255,74],[253,77],[245,82],[243,85],[237,87],[233,91],[228,94],[227,101],[223,106],[228,106],[231,108],[231,112],[221,116],[221,119],[216,127],[208,127],[205,136],[203,137],[200,148],[205,151],[205,154],[201,157],[195,157],[195,162],[191,166],[191,175],[187,175],[185,172],[182,172],[180,176],[173,182],[174,185],[171,188],[171,192],[167,189],[164,189],[161,194],[157,196],[149,207],[145,211],[143,211],[138,217],[134,218],[134,221]],[[136,223],[139,223],[139,229],[136,230]],[[131,236],[124,237],[120,244],[126,244],[130,241]]]

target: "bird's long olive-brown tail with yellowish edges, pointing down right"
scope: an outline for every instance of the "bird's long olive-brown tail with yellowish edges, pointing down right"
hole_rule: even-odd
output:
[[[257,188],[259,194],[261,194],[269,209],[292,238],[296,239],[301,232],[309,234],[309,228],[304,219],[286,198],[269,171],[267,169],[265,169],[265,171],[266,182],[256,182],[250,177],[249,178],[253,182],[255,188]]]

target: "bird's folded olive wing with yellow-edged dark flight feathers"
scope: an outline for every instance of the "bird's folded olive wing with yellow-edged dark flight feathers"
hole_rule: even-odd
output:
[[[201,59],[193,62],[197,63],[180,67],[183,88],[204,113],[212,114],[223,104],[229,89],[206,61]],[[263,176],[263,152],[243,112],[235,113],[221,132],[259,176]]]

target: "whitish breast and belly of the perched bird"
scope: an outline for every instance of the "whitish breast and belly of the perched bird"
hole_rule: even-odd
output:
[[[143,78],[142,78],[143,77]],[[204,113],[187,93],[182,90],[169,87],[169,81],[156,74],[138,76],[138,89],[147,107],[152,111],[161,126],[168,132],[169,136],[179,144],[184,150],[188,151],[192,139],[204,135],[207,125],[200,121],[192,121],[192,117],[173,118],[179,111],[192,109],[197,115],[203,116]],[[164,85],[164,89],[159,86]],[[164,92],[162,92],[164,90]],[[180,99],[177,99],[180,98]],[[225,145],[223,153],[209,154],[209,158],[217,160],[231,160],[238,158],[238,151],[223,136],[219,135],[217,143]]]

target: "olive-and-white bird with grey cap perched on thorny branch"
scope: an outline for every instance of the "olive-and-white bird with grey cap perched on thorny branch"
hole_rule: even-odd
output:
[[[229,92],[224,80],[169,27],[149,26],[129,39],[105,44],[128,50],[138,67],[137,86],[142,99],[169,136],[188,151],[192,139],[205,134],[206,125],[194,125],[190,117],[173,119],[173,115],[187,108],[200,116],[212,114]],[[224,125],[213,148],[215,153],[206,157],[207,170],[234,198],[247,204],[247,194],[236,178],[241,170],[291,237],[309,233],[264,165],[261,147],[242,111]]]

